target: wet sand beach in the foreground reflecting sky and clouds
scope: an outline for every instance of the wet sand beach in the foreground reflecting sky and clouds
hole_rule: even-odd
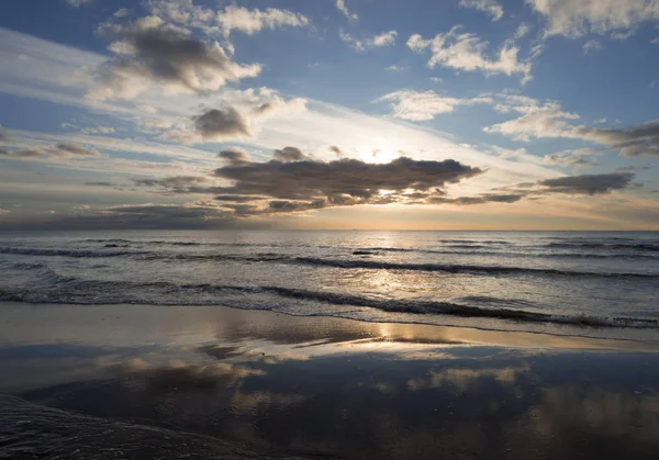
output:
[[[0,458],[655,459],[658,351],[217,306],[3,303],[0,394],[23,401],[0,397]]]

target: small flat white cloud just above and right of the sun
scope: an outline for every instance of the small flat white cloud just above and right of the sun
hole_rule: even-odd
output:
[[[391,113],[396,119],[410,121],[433,120],[442,113],[453,112],[458,105],[492,103],[490,98],[459,99],[437,94],[435,91],[400,90],[390,92],[373,102],[393,101]]]

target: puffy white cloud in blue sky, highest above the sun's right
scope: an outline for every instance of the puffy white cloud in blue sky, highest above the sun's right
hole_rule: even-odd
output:
[[[424,40],[421,35],[415,34],[407,40],[407,47],[415,53],[429,49],[432,53],[427,63],[429,68],[442,66],[462,71],[480,70],[485,75],[522,74],[522,82],[532,78],[530,63],[522,63],[517,59],[520,48],[511,41],[505,42],[499,55],[491,59],[484,55],[488,42],[482,41],[476,34],[460,33],[460,31],[461,26],[456,25],[447,33],[437,34],[433,40]]]

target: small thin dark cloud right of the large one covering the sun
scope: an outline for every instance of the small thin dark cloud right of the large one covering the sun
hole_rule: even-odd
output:
[[[557,179],[547,179],[538,182],[545,187],[541,193],[566,193],[566,194],[602,194],[613,190],[623,190],[634,179],[629,172],[611,172],[606,175],[582,175],[568,176]]]

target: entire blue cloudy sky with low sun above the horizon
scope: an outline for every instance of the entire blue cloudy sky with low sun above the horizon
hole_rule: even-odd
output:
[[[659,0],[4,0],[0,229],[659,229]]]

